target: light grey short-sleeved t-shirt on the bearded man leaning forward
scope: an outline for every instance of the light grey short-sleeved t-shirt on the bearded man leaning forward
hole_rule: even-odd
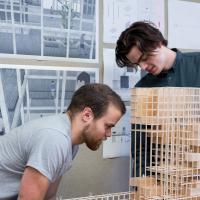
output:
[[[18,194],[26,166],[56,181],[69,170],[77,151],[66,114],[29,121],[0,136],[0,198]]]

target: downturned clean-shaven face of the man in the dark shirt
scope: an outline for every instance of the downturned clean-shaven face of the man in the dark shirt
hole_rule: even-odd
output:
[[[158,75],[166,70],[164,46],[159,46],[150,54],[143,54],[136,46],[134,46],[127,54],[127,59],[131,63],[135,63],[142,70],[153,75]]]

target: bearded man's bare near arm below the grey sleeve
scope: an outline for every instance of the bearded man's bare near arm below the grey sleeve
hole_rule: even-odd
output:
[[[32,167],[26,167],[18,200],[43,200],[49,186],[50,182],[47,177]]]

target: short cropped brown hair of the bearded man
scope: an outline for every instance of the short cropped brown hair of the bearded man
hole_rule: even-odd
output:
[[[97,119],[105,114],[110,103],[119,108],[122,115],[126,112],[124,102],[109,86],[100,83],[87,84],[75,91],[67,111],[73,116],[85,107],[90,107]]]

